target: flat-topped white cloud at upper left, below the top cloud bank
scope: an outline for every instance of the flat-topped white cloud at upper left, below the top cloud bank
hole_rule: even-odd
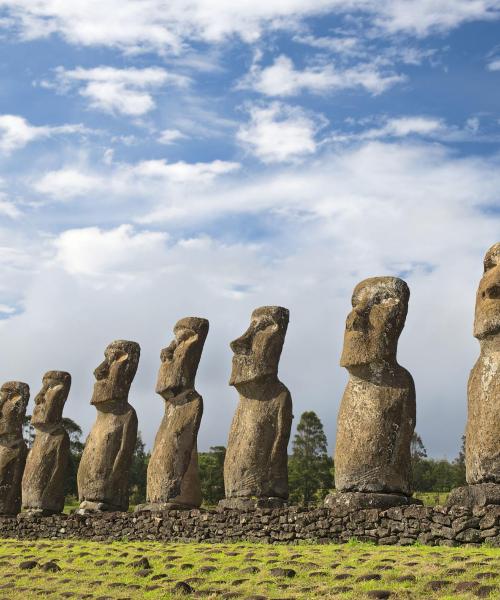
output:
[[[188,83],[187,77],[168,73],[160,67],[116,69],[101,66],[73,70],[57,67],[55,86],[65,92],[76,85],[80,95],[90,100],[92,108],[137,117],[155,108],[153,91],[165,85],[185,87]],[[53,84],[45,82],[44,85]]]

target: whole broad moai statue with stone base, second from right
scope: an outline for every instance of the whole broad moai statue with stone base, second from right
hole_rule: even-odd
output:
[[[372,277],[352,295],[340,365],[349,372],[337,419],[336,492],[328,507],[385,508],[411,500],[415,386],[396,360],[410,290]]]

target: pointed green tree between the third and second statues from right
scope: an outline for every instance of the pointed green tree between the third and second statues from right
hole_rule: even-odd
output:
[[[323,424],[315,412],[306,411],[288,461],[290,501],[307,505],[322,500],[333,486],[332,467]]]

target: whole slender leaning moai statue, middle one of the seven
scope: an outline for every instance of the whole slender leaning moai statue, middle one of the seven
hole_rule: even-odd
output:
[[[186,317],[174,327],[175,339],[161,351],[156,393],[165,415],[148,464],[147,504],[136,510],[188,509],[201,506],[196,441],[203,398],[194,388],[208,321]]]

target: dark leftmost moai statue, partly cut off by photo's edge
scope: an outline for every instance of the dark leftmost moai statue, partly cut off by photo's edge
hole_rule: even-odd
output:
[[[0,515],[21,512],[21,480],[28,448],[23,440],[23,421],[30,388],[7,381],[0,388]]]

